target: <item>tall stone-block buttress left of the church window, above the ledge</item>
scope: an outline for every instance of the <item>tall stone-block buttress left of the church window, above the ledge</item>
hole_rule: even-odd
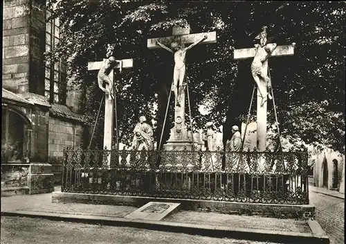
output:
[[[44,94],[45,19],[43,1],[3,1],[3,88]]]

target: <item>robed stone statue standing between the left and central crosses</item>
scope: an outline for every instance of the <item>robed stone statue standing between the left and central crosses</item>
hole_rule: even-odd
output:
[[[136,150],[152,150],[154,146],[153,130],[150,125],[145,123],[145,116],[139,117],[139,122],[134,128],[134,140],[132,146]]]

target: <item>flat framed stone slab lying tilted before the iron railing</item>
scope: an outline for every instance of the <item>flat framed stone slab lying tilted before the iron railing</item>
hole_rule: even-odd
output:
[[[162,220],[179,207],[175,202],[148,202],[143,207],[125,216],[125,218],[139,218],[143,220]]]

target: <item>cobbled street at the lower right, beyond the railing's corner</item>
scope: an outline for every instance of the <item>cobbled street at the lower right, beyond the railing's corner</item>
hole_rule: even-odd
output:
[[[309,192],[310,203],[316,207],[316,220],[329,236],[331,244],[345,241],[345,200]]]

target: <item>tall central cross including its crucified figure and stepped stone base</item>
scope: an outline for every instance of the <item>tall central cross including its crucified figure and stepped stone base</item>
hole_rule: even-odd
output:
[[[171,129],[170,139],[164,145],[165,150],[175,147],[176,150],[191,148],[191,139],[188,137],[188,129],[185,125],[185,54],[188,49],[196,44],[209,44],[217,42],[216,32],[190,34],[190,28],[173,27],[170,37],[158,37],[147,40],[148,49],[163,48],[174,53],[174,77],[172,79],[172,91],[175,95],[174,103],[174,128]],[[185,48],[185,44],[191,44]],[[170,49],[167,46],[170,46]],[[191,132],[193,137],[193,132]]]

